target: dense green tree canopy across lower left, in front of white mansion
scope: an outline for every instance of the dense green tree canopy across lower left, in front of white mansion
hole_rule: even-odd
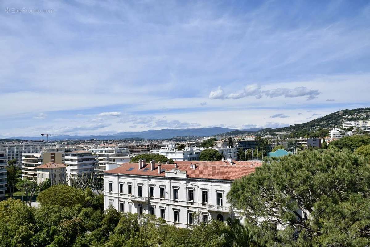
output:
[[[30,208],[11,198],[0,202],[0,247],[217,247],[223,243],[221,233],[230,232],[219,221],[190,230],[152,215],[124,214],[114,208],[103,212],[102,200],[92,203],[100,196],[91,190],[85,194],[85,201],[73,207],[48,203]],[[58,196],[50,194],[50,200]]]

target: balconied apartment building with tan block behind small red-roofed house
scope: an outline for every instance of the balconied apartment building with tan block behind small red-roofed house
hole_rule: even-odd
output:
[[[23,153],[21,158],[22,179],[36,180],[36,167],[49,162],[63,163],[64,153]]]

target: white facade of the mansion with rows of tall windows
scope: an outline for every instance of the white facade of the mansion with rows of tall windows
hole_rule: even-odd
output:
[[[137,163],[125,166],[131,165],[138,169]],[[124,174],[126,167],[122,174],[115,172],[121,167],[107,171],[104,173],[104,208],[113,206],[124,213],[154,214],[168,224],[183,228],[194,226],[193,213],[200,215],[200,221],[240,217],[226,201],[232,180],[191,178],[187,171],[172,167],[162,171],[165,173],[162,177],[145,176],[145,171],[142,176]],[[158,168],[153,170],[156,172]]]

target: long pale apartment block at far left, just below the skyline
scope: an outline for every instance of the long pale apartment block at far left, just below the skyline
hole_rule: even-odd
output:
[[[0,143],[0,151],[5,152],[7,160],[16,159],[16,166],[21,166],[23,153],[41,153],[50,143],[44,141],[28,141],[24,143]]]

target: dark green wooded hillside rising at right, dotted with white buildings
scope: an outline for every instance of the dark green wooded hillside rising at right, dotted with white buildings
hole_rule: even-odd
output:
[[[275,129],[265,128],[259,130],[258,133],[265,135],[273,134],[279,131],[290,131],[292,134],[288,137],[303,137],[305,135],[312,137],[324,137],[327,135],[330,128],[343,126],[343,122],[345,121],[361,119],[370,119],[370,107],[353,110],[340,110],[306,123]]]

